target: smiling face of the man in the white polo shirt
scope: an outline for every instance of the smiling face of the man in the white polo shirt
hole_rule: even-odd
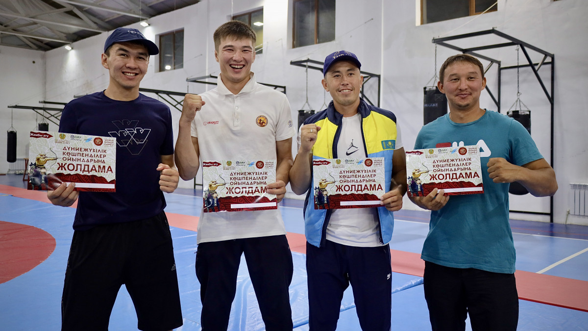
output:
[[[215,49],[216,62],[220,64],[223,84],[237,94],[249,81],[251,65],[255,61],[255,48],[249,38],[226,37],[220,39]]]

